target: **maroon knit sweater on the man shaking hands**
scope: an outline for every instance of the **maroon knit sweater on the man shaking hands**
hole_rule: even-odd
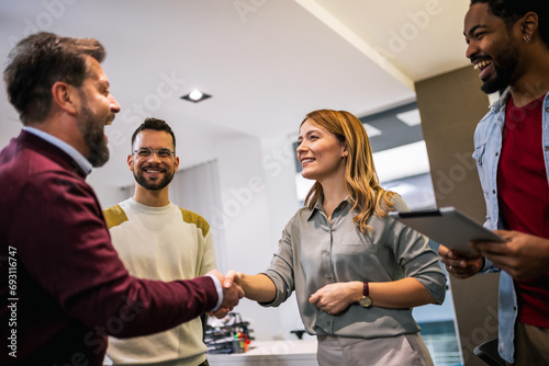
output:
[[[42,138],[23,130],[0,152],[0,365],[101,365],[107,335],[164,331],[217,302],[210,277],[130,276],[85,173]]]

